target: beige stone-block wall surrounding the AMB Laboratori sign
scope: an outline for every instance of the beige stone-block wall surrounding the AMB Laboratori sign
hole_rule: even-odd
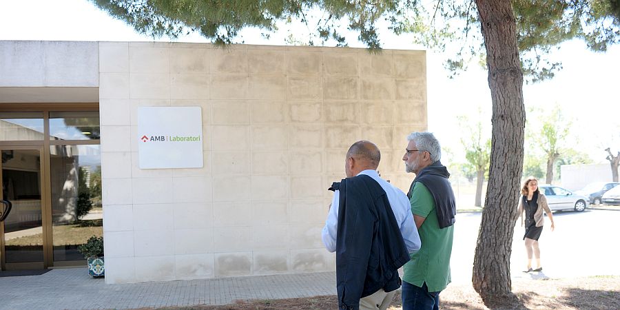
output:
[[[402,189],[426,128],[421,51],[99,43],[106,282],[332,271],[321,242],[365,139]],[[204,167],[139,169],[137,107],[200,106]]]

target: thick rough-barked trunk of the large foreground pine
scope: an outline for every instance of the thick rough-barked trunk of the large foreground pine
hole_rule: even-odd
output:
[[[493,136],[485,207],[472,283],[482,296],[512,296],[512,254],[517,195],[523,169],[525,107],[517,30],[509,0],[476,0],[486,47],[493,101]]]

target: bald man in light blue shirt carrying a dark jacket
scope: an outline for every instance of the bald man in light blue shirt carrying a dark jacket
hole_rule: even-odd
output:
[[[409,200],[380,178],[380,159],[374,143],[353,143],[344,161],[347,178],[330,188],[334,195],[322,240],[336,252],[342,309],[387,309],[401,285],[397,269],[420,249]]]

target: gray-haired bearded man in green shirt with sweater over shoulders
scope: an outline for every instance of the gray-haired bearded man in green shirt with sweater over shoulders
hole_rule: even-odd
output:
[[[439,309],[439,294],[451,282],[450,256],[456,205],[442,148],[430,132],[413,132],[402,160],[415,179],[409,203],[422,247],[404,265],[402,309]]]

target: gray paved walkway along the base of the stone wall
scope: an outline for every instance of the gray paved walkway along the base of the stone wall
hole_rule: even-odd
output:
[[[85,268],[0,277],[0,309],[135,309],[335,295],[335,272],[105,285]]]

